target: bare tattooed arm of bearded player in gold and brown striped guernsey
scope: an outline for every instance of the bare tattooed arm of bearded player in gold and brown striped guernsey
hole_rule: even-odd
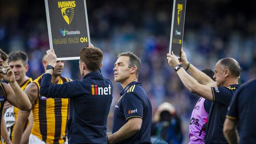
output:
[[[35,83],[30,83],[26,89],[24,90],[30,99],[32,107],[35,105],[35,102],[38,98],[38,89]],[[22,138],[22,133],[24,130],[24,126],[26,124],[26,120],[30,115],[30,111],[21,111],[19,110],[17,120],[15,122],[14,134],[13,134],[13,144],[19,144]],[[28,128],[28,127],[27,127]],[[25,130],[26,131],[26,130]],[[23,138],[22,138],[23,140]]]

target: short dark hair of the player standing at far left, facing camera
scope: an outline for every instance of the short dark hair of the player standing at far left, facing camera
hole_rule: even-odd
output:
[[[8,57],[8,63],[11,61],[21,60],[23,65],[28,65],[28,55],[22,51],[11,52]]]

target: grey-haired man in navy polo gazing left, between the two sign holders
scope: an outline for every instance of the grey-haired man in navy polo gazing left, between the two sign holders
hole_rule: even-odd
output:
[[[138,82],[141,61],[132,52],[118,54],[117,58],[114,77],[123,90],[115,105],[108,144],[151,144],[152,105]]]

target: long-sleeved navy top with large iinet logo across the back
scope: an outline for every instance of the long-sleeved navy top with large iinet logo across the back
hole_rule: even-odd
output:
[[[69,144],[106,144],[106,124],[113,98],[111,81],[99,71],[62,85],[52,85],[51,78],[50,74],[43,75],[40,94],[48,98],[69,98]]]

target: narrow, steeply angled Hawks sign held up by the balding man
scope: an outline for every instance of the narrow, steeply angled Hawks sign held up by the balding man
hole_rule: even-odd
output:
[[[173,51],[180,58],[180,48],[183,44],[186,0],[173,0],[173,17],[169,53]]]

